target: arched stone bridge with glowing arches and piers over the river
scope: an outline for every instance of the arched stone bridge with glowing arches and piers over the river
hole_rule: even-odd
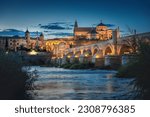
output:
[[[119,37],[117,31],[113,31],[111,40],[66,49],[63,57],[57,58],[57,62],[64,64],[78,60],[81,63],[92,62],[96,66],[107,66],[113,63],[125,64],[129,59],[134,58],[130,56],[134,51],[132,47],[133,38],[149,41],[150,32]]]

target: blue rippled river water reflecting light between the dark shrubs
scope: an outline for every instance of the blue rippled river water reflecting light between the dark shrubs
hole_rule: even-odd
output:
[[[32,89],[35,100],[133,99],[133,79],[115,78],[116,71],[68,70],[54,67],[31,67],[37,71]]]

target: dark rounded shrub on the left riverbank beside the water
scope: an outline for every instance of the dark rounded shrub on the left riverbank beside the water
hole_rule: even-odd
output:
[[[26,71],[22,71],[21,59],[15,54],[0,51],[0,99],[26,99]]]

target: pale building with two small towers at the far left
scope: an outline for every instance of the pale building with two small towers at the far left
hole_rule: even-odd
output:
[[[25,37],[13,36],[13,37],[0,37],[0,48],[1,49],[8,49],[8,50],[15,50],[17,51],[20,48],[27,48],[27,49],[45,49],[45,40],[43,33],[36,38],[30,37],[30,32],[27,29],[25,32]]]

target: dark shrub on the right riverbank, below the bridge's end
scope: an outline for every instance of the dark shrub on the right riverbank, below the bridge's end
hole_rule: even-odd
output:
[[[142,99],[150,99],[150,43],[140,42],[137,60],[123,66],[118,77],[135,77],[135,88]]]

